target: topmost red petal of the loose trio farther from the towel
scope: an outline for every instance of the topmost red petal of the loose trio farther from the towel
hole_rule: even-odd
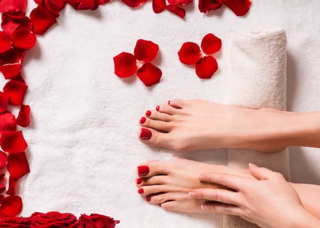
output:
[[[159,46],[152,41],[139,39],[134,47],[134,56],[139,61],[149,63],[154,60]]]

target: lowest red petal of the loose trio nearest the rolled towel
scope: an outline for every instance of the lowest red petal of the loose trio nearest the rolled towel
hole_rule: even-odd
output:
[[[204,56],[196,63],[196,74],[200,79],[210,79],[217,69],[217,60],[212,56]]]

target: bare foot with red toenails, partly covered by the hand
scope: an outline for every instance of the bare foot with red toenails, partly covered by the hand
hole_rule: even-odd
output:
[[[148,161],[139,164],[136,186],[138,193],[150,204],[159,204],[166,210],[188,213],[206,213],[201,205],[204,199],[189,197],[197,188],[226,188],[221,185],[200,182],[197,176],[205,172],[231,173],[253,178],[247,169],[217,166],[196,161],[178,159],[172,161]]]

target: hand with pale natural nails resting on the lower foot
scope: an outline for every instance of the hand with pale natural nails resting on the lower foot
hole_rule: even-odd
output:
[[[202,210],[238,215],[261,227],[320,227],[320,221],[301,205],[298,194],[282,174],[250,164],[249,170],[257,179],[232,174],[204,173],[203,182],[212,182],[234,189],[195,189],[193,198],[204,198]]]

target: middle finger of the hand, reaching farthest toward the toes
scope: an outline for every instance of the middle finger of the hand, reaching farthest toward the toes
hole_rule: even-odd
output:
[[[240,194],[226,189],[200,188],[189,193],[192,198],[208,199],[239,206]]]

